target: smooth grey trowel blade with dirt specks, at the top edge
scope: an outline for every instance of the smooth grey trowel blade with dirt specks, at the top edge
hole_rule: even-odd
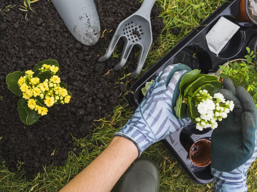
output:
[[[71,34],[84,45],[94,45],[100,38],[100,22],[94,0],[52,0]]]

